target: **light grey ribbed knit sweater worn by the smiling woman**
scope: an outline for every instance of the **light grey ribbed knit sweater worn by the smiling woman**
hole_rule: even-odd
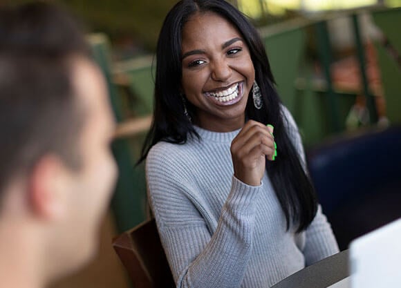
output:
[[[268,173],[261,186],[234,177],[230,145],[239,130],[196,131],[200,142],[159,142],[146,164],[151,208],[177,287],[270,287],[338,252],[320,208],[306,231],[286,231]]]

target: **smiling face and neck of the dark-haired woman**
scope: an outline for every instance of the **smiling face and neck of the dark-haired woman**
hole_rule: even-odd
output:
[[[223,17],[206,12],[183,28],[182,89],[196,107],[195,124],[209,131],[241,128],[254,83],[254,66],[243,37]]]

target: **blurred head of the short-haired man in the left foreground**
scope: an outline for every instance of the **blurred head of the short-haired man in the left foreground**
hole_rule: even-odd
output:
[[[6,234],[27,246],[19,238],[29,235],[38,281],[48,281],[97,247],[116,175],[113,117],[86,40],[62,10],[1,10],[0,39],[0,253]]]

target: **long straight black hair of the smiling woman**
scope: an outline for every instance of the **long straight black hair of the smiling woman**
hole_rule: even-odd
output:
[[[222,0],[182,0],[168,13],[156,52],[156,84],[153,123],[142,147],[142,162],[150,148],[159,141],[184,144],[187,137],[200,137],[184,113],[181,87],[181,35],[189,17],[197,12],[214,12],[232,23],[242,34],[248,45],[254,64],[255,79],[263,95],[263,107],[254,108],[252,97],[248,97],[245,117],[274,126],[277,143],[277,160],[266,161],[270,181],[286,215],[287,229],[295,225],[303,231],[312,222],[317,211],[317,198],[313,185],[304,171],[299,153],[290,140],[288,126],[284,122],[281,100],[274,88],[274,78],[265,48],[259,33],[245,16],[230,3]],[[195,108],[186,103],[189,115]]]

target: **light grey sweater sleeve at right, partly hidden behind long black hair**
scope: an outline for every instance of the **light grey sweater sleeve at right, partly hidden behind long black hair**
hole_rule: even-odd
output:
[[[302,145],[297,124],[295,124],[295,120],[292,118],[290,111],[284,106],[283,114],[287,120],[290,137],[299,153],[299,157],[301,157],[301,164],[304,166],[306,173],[308,173],[304,146]],[[315,218],[308,229],[306,229],[305,234],[306,242],[303,252],[306,259],[306,266],[339,252],[337,240],[335,240],[330,223],[328,223],[326,216],[322,213],[320,205],[318,206]]]

